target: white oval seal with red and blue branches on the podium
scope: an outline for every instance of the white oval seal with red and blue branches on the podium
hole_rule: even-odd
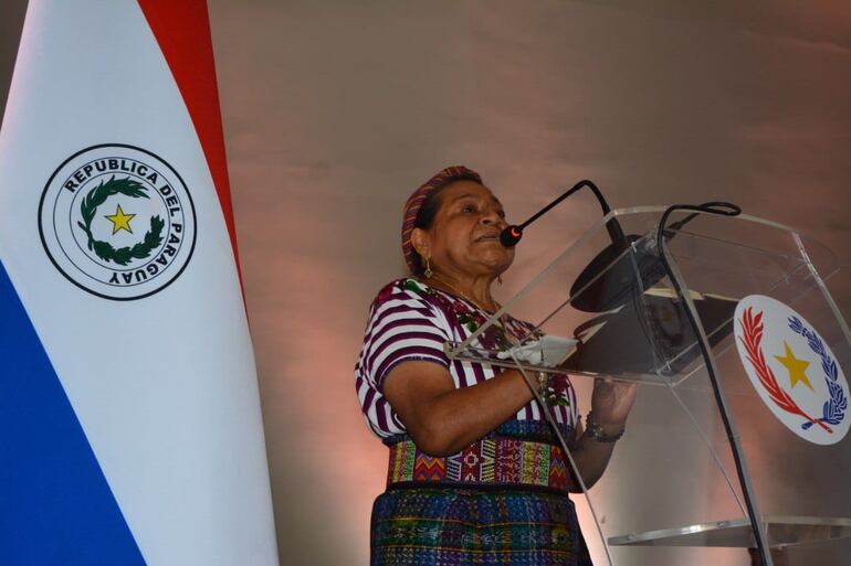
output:
[[[817,445],[848,434],[848,382],[818,331],[782,302],[750,295],[736,306],[736,349],[763,403]]]

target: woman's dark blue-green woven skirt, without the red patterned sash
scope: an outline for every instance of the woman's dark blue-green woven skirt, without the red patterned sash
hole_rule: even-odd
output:
[[[523,430],[504,426],[497,434],[545,440],[543,428],[518,423],[506,425]],[[372,506],[371,566],[591,566],[566,491],[546,483],[393,483],[393,461],[391,451],[391,484]]]

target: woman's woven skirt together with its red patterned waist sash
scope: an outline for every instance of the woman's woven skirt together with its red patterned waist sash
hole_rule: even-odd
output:
[[[591,566],[560,449],[540,425],[509,421],[440,459],[421,455],[407,437],[388,441],[371,565]]]

